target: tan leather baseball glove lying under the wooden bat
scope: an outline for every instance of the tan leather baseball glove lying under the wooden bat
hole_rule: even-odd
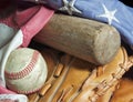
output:
[[[101,67],[51,48],[41,53],[48,63],[48,80],[39,92],[28,95],[30,102],[109,102],[120,79],[133,65],[133,57],[123,47]]]

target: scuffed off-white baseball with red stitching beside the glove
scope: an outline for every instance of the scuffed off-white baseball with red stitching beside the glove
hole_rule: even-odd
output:
[[[19,48],[11,52],[6,63],[6,84],[18,93],[29,94],[42,88],[48,68],[41,53],[30,48]]]

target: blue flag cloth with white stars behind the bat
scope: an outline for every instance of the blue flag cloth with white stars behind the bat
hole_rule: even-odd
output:
[[[38,1],[38,0],[37,0]],[[45,0],[55,10],[98,20],[117,29],[133,50],[133,8],[119,0]]]

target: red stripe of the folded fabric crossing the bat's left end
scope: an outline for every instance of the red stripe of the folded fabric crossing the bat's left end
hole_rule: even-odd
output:
[[[0,24],[6,24],[23,33],[22,47],[28,47],[30,40],[35,35],[52,17],[53,11],[44,7],[37,6],[23,11],[17,11],[9,18],[0,20]],[[2,39],[0,39],[2,42]]]

